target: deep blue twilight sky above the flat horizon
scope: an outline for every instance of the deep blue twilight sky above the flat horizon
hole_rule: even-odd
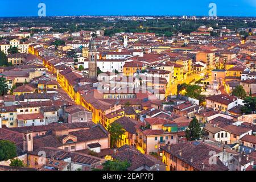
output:
[[[256,16],[256,0],[0,0],[0,16],[46,15],[208,15],[216,3],[217,16]]]

